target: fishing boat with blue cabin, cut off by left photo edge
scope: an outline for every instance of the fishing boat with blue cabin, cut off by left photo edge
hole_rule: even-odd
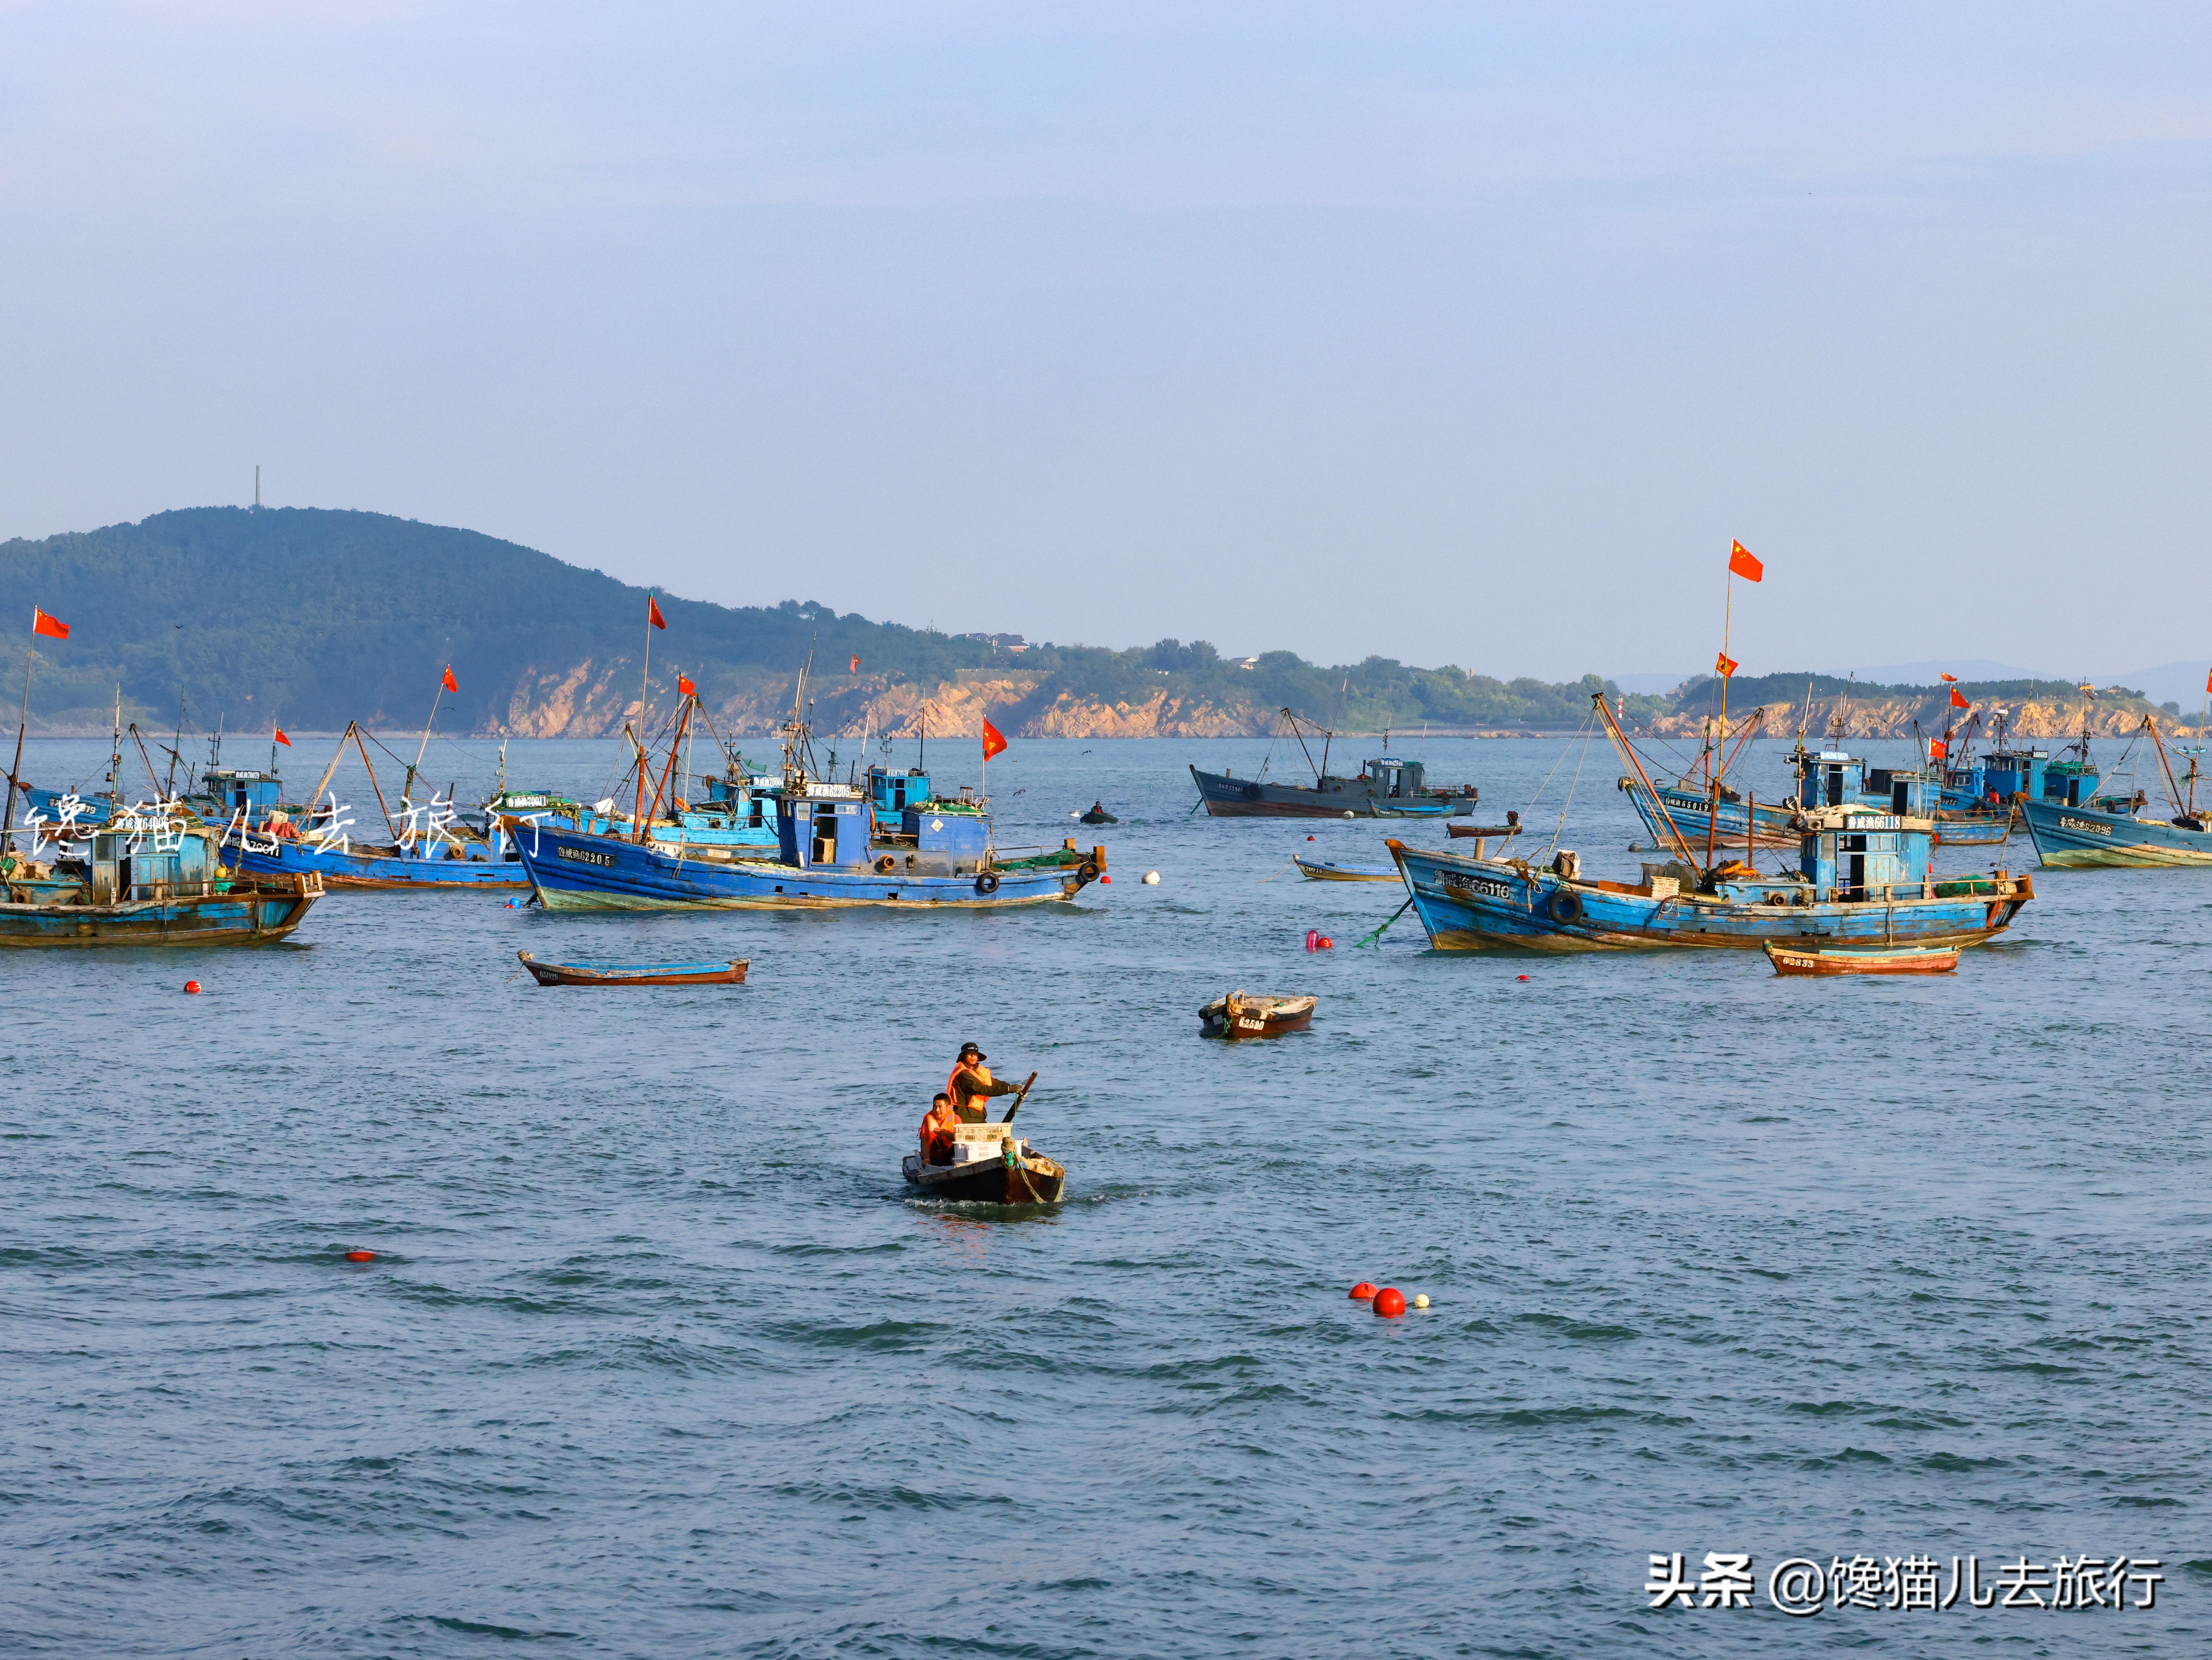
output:
[[[197,813],[124,809],[60,853],[0,855],[0,946],[265,944],[323,895],[312,873],[223,875],[217,833]]]

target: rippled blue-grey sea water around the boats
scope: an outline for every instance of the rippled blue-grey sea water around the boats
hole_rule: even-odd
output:
[[[261,950],[0,957],[0,1651],[2212,1651],[2212,871],[2037,871],[1931,981],[1442,957],[1411,915],[1363,950],[1402,893],[1285,855],[1374,824],[1188,816],[1186,763],[1265,747],[1018,743],[1002,840],[1108,847],[1077,906],[369,893]],[[1498,811],[1551,776],[1540,844],[1579,767],[1562,844],[1635,873],[1601,747],[1400,747]],[[540,990],[520,948],[752,979]],[[1201,1041],[1232,986],[1321,1012]],[[1040,1072],[1066,1205],[905,1196],[969,1037]],[[1652,1552],[1750,1552],[1756,1607],[1646,1611]],[[1767,1607],[1858,1552],[2166,1583]]]

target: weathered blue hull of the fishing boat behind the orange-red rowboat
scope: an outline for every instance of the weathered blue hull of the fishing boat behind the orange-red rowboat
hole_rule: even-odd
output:
[[[1756,950],[1770,939],[1798,948],[1973,946],[2004,933],[2035,897],[2022,875],[1940,882],[1933,900],[1763,904],[1655,895],[1619,882],[1571,882],[1546,869],[1389,847],[1438,950]],[[1942,889],[1953,893],[1944,897]]]

